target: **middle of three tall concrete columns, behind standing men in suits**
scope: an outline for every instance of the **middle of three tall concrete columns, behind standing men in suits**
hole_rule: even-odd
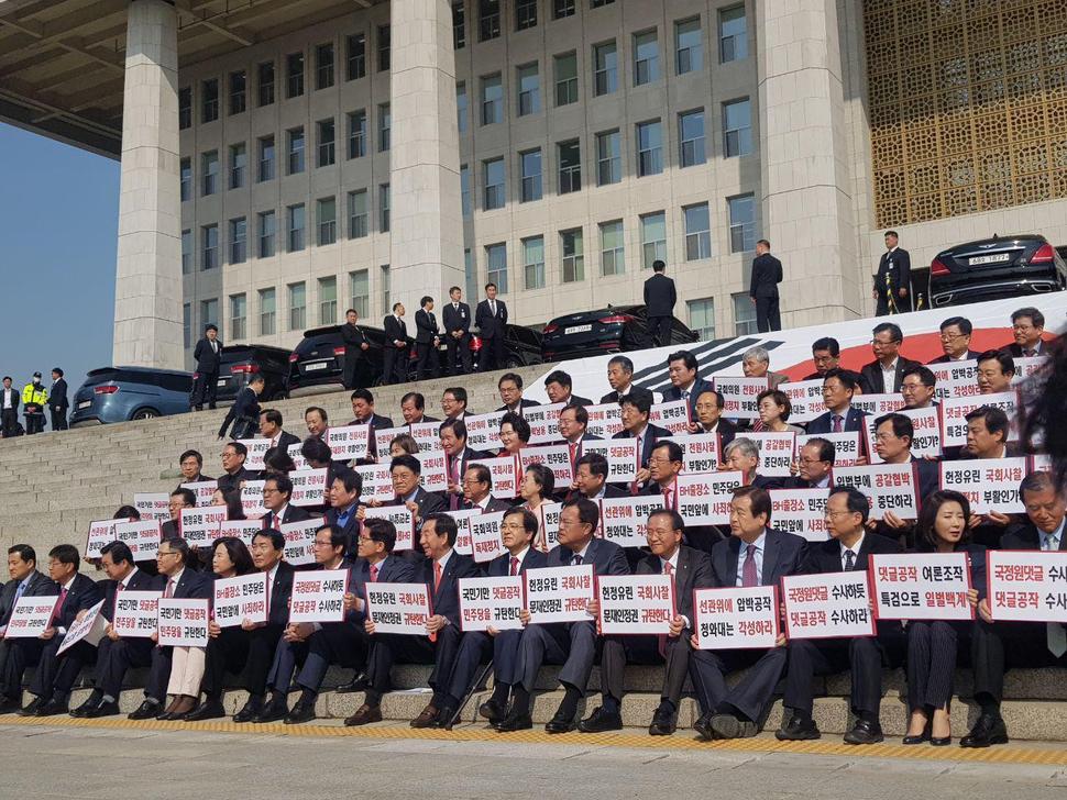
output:
[[[392,0],[392,31],[389,269],[410,320],[424,295],[440,309],[464,286],[451,3]]]

